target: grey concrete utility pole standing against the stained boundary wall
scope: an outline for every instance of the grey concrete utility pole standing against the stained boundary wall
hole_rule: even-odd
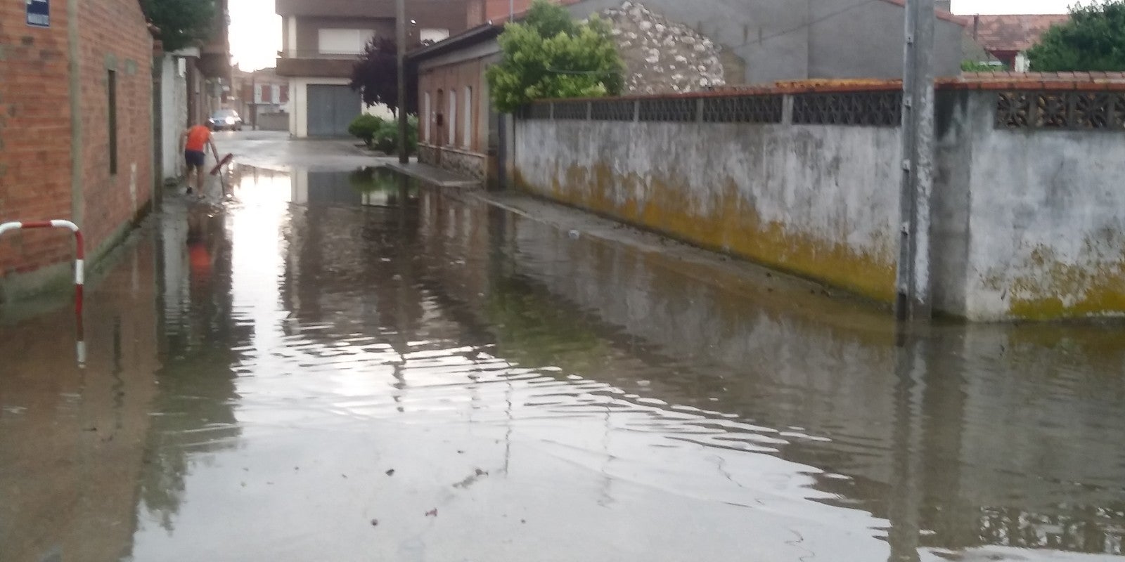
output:
[[[899,265],[896,316],[927,320],[929,200],[934,187],[934,0],[907,0],[902,72],[902,184],[899,190]]]

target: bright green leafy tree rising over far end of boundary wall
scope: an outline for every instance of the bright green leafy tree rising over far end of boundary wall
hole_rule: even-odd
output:
[[[487,70],[493,105],[503,112],[539,99],[616,96],[624,64],[596,16],[575,21],[561,7],[534,0],[523,21],[501,34],[503,60]]]

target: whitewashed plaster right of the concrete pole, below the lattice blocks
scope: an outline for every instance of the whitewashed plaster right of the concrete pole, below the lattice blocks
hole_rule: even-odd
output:
[[[994,107],[996,94],[973,102]],[[1125,135],[996,129],[979,119],[972,146],[968,318],[1007,319],[1014,302],[1073,307],[1106,287],[1125,289]]]

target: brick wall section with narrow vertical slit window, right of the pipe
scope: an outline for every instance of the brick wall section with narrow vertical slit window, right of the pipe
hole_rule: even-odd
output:
[[[79,6],[82,229],[94,250],[152,197],[152,36],[136,0]],[[109,170],[109,67],[117,75],[116,174]]]

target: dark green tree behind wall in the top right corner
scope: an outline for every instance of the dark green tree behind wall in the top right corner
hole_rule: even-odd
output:
[[[1074,6],[1027,57],[1037,72],[1125,71],[1125,0]]]

